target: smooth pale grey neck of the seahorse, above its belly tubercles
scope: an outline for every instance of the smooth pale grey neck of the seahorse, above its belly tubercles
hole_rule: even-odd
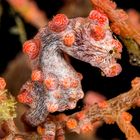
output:
[[[66,62],[63,52],[59,49],[59,44],[52,43],[44,47],[41,56],[42,71],[44,74],[53,73],[58,77],[74,75],[75,70]]]

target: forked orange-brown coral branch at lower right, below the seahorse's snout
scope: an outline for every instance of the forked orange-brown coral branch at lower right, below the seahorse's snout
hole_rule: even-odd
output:
[[[117,122],[118,126],[129,140],[138,140],[140,139],[140,135],[130,123],[132,117],[125,111],[132,107],[139,106],[139,100],[140,78],[135,78],[132,81],[132,89],[130,91],[108,101],[94,104],[86,111],[84,119],[90,120],[92,123],[97,120],[104,120],[107,124]]]

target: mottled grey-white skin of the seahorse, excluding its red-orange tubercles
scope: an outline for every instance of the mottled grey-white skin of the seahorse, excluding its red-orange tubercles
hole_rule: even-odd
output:
[[[75,18],[69,20],[67,28],[62,32],[53,32],[46,26],[40,29],[35,36],[41,41],[41,49],[38,57],[31,60],[32,68],[41,70],[44,79],[47,79],[49,74],[53,74],[57,84],[55,89],[48,90],[43,82],[32,81],[32,90],[28,88],[28,84],[25,84],[21,89],[21,91],[27,90],[33,98],[33,103],[28,104],[30,109],[25,114],[26,121],[31,125],[39,125],[45,120],[49,113],[48,105],[54,105],[57,111],[73,109],[76,107],[77,101],[84,96],[81,80],[73,67],[64,59],[64,52],[100,68],[107,76],[111,77],[110,67],[116,64],[115,52],[110,53],[110,50],[113,51],[115,47],[111,44],[113,37],[107,22],[104,27],[105,37],[100,41],[95,41],[91,37],[91,28],[95,24],[97,23],[89,18]],[[70,33],[75,35],[75,42],[71,47],[67,47],[64,45],[63,39]],[[115,75],[118,73],[116,72]],[[68,77],[78,80],[78,86],[65,89],[61,81]],[[54,96],[56,92],[60,93],[61,98]],[[76,96],[74,96],[75,93]]]

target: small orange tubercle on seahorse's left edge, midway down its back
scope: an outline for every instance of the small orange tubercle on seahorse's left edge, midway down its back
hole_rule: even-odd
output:
[[[31,75],[31,79],[33,81],[42,81],[43,80],[42,72],[40,70],[33,70],[32,75]]]

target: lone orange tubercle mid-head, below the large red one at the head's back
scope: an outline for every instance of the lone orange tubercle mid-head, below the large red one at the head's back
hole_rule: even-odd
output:
[[[67,34],[64,37],[64,45],[66,45],[67,47],[71,47],[73,45],[73,43],[75,42],[75,36],[73,33]]]

